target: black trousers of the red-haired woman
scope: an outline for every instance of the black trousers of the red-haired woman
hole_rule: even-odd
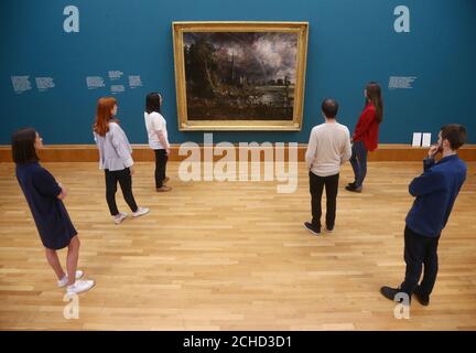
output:
[[[109,206],[109,212],[112,216],[119,213],[116,204],[117,183],[122,190],[122,195],[132,212],[138,211],[136,200],[132,195],[132,178],[129,168],[122,170],[105,171],[106,175],[106,201]]]

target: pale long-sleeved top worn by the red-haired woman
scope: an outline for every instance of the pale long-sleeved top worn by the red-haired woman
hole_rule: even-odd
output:
[[[109,122],[109,131],[106,132],[106,136],[93,133],[99,150],[99,169],[115,171],[133,164],[132,147],[117,122]]]

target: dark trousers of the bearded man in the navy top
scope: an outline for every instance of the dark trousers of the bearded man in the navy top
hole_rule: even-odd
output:
[[[424,265],[423,279],[419,292],[422,296],[430,296],[439,269],[437,245],[439,237],[428,237],[414,233],[408,226],[404,229],[404,260],[407,264],[405,278],[400,285],[400,290],[409,295],[414,292]]]

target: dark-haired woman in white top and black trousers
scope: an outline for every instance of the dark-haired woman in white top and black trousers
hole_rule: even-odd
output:
[[[149,146],[155,153],[155,190],[158,192],[171,191],[165,183],[166,162],[169,160],[170,143],[166,131],[166,121],[161,115],[162,96],[156,93],[148,94],[145,98],[145,128],[149,136]]]

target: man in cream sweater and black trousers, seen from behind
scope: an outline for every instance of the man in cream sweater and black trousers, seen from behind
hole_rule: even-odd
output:
[[[334,229],[336,217],[336,199],[340,164],[351,154],[350,133],[345,125],[336,121],[338,104],[334,99],[324,99],[322,113],[324,124],[315,126],[311,131],[305,160],[310,169],[310,191],[312,222],[305,222],[304,227],[314,235],[321,233],[321,200],[325,186],[326,229]]]

